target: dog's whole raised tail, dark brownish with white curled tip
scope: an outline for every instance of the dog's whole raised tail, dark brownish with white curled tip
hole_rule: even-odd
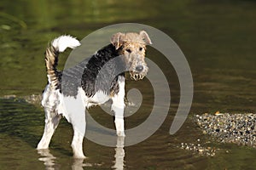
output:
[[[57,77],[57,65],[58,65],[58,56],[61,52],[65,51],[66,48],[76,48],[80,45],[80,42],[71,36],[61,36],[55,38],[46,48],[45,51],[45,65],[47,70],[47,76],[49,84],[56,86],[58,83]]]

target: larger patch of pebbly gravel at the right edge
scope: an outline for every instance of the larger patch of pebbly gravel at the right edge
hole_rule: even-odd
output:
[[[256,114],[205,113],[196,115],[195,122],[218,142],[256,147]]]

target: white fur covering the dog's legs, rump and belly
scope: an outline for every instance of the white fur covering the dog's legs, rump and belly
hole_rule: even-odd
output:
[[[42,105],[45,111],[44,134],[38,143],[38,150],[47,149],[50,139],[58,126],[61,116],[73,125],[73,156],[84,158],[83,139],[85,134],[85,108],[91,105],[101,105],[113,100],[111,109],[115,116],[115,127],[118,136],[125,136],[124,108],[125,108],[125,78],[119,77],[119,93],[113,97],[108,96],[102,91],[96,92],[92,97],[85,95],[83,88],[79,88],[78,95],[75,97],[64,96],[60,90],[47,85],[44,89]]]

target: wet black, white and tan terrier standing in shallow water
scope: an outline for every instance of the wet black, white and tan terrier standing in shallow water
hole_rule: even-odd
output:
[[[55,38],[45,52],[48,84],[44,89],[42,105],[45,111],[44,134],[38,143],[38,150],[47,149],[61,116],[73,125],[73,156],[85,158],[83,139],[85,134],[85,109],[91,105],[100,105],[112,99],[111,110],[114,113],[115,128],[118,136],[125,136],[125,71],[131,79],[140,80],[146,76],[148,66],[145,63],[146,45],[152,44],[146,31],[139,33],[116,33],[111,43],[98,50],[86,63],[76,65],[67,71],[57,71],[58,55],[66,48],[76,48],[80,42],[70,36]],[[117,62],[110,62],[112,59]],[[104,67],[102,78],[98,78]],[[79,69],[82,68],[82,72]],[[119,72],[122,71],[122,72]],[[77,76],[79,75],[79,76]],[[63,81],[63,76],[67,77]],[[106,80],[106,77],[108,80]],[[110,82],[109,82],[110,81]],[[64,89],[63,86],[66,88]],[[79,98],[83,102],[83,111],[75,107],[67,111],[63,100]],[[76,117],[75,117],[76,116]],[[78,118],[79,117],[79,118]],[[84,127],[79,127],[79,124]]]

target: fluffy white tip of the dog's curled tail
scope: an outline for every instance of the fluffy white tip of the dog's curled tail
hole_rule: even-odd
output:
[[[59,52],[65,51],[66,48],[76,48],[81,45],[75,37],[68,35],[55,38],[51,44]]]

